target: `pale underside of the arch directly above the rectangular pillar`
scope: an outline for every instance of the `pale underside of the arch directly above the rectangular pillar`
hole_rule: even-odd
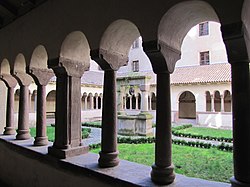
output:
[[[83,65],[84,70],[90,66],[90,47],[86,36],[81,31],[73,31],[64,39],[60,50],[61,60],[73,60]]]

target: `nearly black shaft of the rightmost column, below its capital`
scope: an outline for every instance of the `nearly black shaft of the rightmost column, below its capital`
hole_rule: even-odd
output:
[[[233,100],[234,178],[232,186],[250,185],[250,71],[248,62],[231,64]],[[240,183],[242,184],[240,184]],[[244,185],[243,185],[244,184]]]

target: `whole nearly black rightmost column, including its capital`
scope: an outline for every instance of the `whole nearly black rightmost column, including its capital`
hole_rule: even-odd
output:
[[[232,72],[233,162],[232,187],[250,186],[250,70],[241,22],[222,26]]]

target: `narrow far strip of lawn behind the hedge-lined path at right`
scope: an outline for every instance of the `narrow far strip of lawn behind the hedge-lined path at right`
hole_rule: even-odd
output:
[[[190,127],[186,129],[177,130],[177,131],[183,132],[183,133],[190,133],[192,135],[232,138],[232,130],[213,129],[213,128],[205,128],[205,127]]]

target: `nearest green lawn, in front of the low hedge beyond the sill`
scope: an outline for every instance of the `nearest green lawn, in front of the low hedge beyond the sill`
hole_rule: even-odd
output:
[[[175,172],[189,177],[229,182],[233,176],[232,153],[217,149],[201,149],[173,145]],[[154,144],[119,144],[119,158],[151,166]],[[100,149],[92,152],[98,153]]]

